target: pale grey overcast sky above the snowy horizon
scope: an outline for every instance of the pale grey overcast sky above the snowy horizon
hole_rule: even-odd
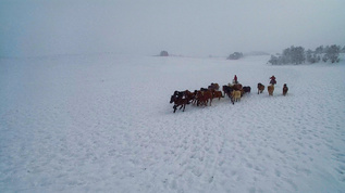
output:
[[[345,0],[0,0],[0,56],[345,46]]]

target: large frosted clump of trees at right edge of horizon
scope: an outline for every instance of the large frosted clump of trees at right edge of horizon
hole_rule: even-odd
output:
[[[320,61],[331,63],[340,62],[340,53],[345,53],[345,47],[332,44],[332,46],[320,46],[316,50],[308,49],[307,51],[303,47],[286,48],[283,53],[278,53],[276,55],[271,55],[269,63],[272,65],[283,65],[283,64],[303,64],[308,62],[310,64],[318,63]]]

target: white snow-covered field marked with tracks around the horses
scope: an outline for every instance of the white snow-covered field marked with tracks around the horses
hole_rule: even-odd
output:
[[[0,192],[345,192],[344,60],[269,57],[1,59]],[[241,102],[173,113],[175,90],[235,74]]]

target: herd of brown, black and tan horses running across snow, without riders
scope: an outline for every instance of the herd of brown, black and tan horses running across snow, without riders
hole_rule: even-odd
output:
[[[258,83],[258,94],[262,93],[264,90],[264,86],[262,83]],[[249,86],[243,87],[241,83],[234,83],[234,85],[224,85],[222,87],[222,91],[219,90],[220,87],[218,83],[211,83],[208,88],[200,88],[200,90],[195,90],[194,92],[190,92],[189,90],[185,91],[174,91],[173,95],[170,98],[170,103],[174,103],[174,113],[176,112],[177,107],[180,106],[180,110],[183,108],[183,112],[186,108],[187,104],[196,104],[197,106],[208,104],[212,104],[213,99],[221,99],[227,95],[230,98],[231,103],[235,104],[235,102],[241,101],[241,98],[249,93],[251,88]],[[283,95],[286,95],[287,93],[287,86],[284,83],[283,87]],[[274,85],[268,86],[268,92],[269,95],[273,95],[274,91]],[[224,94],[223,94],[224,93]]]

